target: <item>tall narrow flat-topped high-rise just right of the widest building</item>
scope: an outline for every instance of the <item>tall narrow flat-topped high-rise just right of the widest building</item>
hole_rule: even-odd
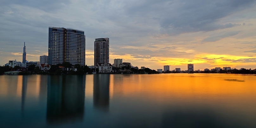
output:
[[[98,38],[94,42],[94,65],[109,63],[109,38]]]

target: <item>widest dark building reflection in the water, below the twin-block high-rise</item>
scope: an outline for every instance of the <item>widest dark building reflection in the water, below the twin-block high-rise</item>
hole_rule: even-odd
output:
[[[85,76],[48,76],[47,122],[81,121],[84,115]]]

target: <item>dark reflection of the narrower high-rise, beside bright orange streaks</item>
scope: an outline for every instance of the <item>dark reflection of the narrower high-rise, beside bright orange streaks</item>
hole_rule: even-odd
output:
[[[96,109],[109,110],[109,74],[93,75],[93,106]]]

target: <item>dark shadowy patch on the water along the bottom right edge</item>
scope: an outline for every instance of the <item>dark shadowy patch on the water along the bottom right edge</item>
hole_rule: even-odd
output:
[[[173,111],[163,114],[163,128],[236,128],[243,125],[225,121],[211,110]]]

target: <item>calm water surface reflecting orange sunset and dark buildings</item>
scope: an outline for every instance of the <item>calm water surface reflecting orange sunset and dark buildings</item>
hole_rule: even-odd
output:
[[[1,75],[0,127],[256,127],[256,76]]]

